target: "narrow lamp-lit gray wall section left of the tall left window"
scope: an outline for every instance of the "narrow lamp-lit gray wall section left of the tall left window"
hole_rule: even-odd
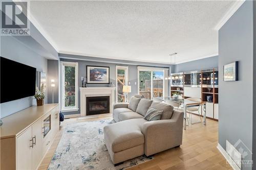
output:
[[[59,60],[47,60],[47,68],[48,103],[59,103]],[[52,79],[55,87],[51,87]]]

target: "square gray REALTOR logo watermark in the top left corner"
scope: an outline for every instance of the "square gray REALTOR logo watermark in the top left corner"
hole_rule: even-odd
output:
[[[29,1],[1,1],[1,36],[29,36]]]

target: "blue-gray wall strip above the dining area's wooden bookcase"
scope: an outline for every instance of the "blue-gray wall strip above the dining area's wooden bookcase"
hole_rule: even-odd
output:
[[[218,56],[189,61],[175,65],[175,72],[218,68]]]

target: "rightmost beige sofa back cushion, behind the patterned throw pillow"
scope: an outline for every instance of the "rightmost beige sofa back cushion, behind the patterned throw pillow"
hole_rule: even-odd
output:
[[[157,110],[162,110],[163,115],[161,119],[169,119],[173,115],[174,107],[165,103],[152,102],[151,107]]]

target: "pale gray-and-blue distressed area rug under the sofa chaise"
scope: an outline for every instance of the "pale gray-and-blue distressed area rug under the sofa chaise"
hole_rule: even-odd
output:
[[[154,158],[140,156],[114,166],[103,134],[103,127],[112,123],[111,119],[104,119],[67,125],[48,169],[120,170]]]

